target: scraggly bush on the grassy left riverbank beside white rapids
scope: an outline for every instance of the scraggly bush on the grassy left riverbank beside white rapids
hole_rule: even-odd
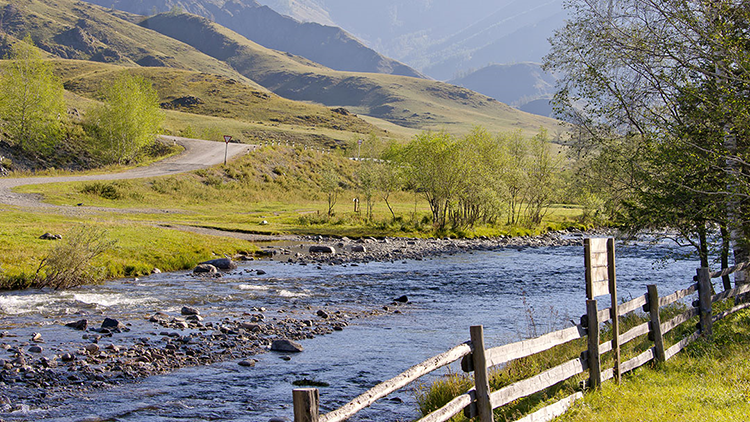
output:
[[[93,260],[115,243],[106,239],[104,229],[76,227],[42,259],[34,277],[34,287],[58,290],[101,282],[104,271],[94,267]]]

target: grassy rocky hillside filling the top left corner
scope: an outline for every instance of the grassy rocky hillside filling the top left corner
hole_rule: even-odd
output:
[[[0,0],[0,56],[9,42],[31,34],[53,57],[169,67],[226,76],[262,89],[229,65],[157,32],[74,0]],[[7,36],[3,38],[1,36]]]

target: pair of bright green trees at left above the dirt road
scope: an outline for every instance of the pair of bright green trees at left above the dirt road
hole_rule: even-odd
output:
[[[73,129],[78,123],[68,118],[63,84],[30,36],[13,44],[0,64],[3,139],[24,154],[45,157],[79,136]],[[144,78],[122,72],[107,81],[101,98],[82,125],[88,152],[104,163],[137,160],[161,128],[156,91]]]

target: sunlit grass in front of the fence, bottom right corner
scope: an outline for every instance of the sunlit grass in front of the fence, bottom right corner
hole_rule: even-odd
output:
[[[662,365],[636,370],[617,386],[605,383],[560,422],[745,421],[750,414],[750,311],[714,325]]]

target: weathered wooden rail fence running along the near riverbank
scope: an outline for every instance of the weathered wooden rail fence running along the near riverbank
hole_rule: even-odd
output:
[[[714,322],[750,307],[750,303],[742,303],[721,313],[714,314],[712,312],[713,303],[750,292],[750,284],[713,294],[711,279],[731,274],[747,266],[750,265],[741,264],[714,273],[711,273],[707,268],[698,269],[697,276],[693,279],[693,281],[696,281],[695,284],[664,297],[659,297],[656,285],[649,285],[644,295],[606,309],[600,310],[596,300],[588,300],[586,302],[587,313],[581,317],[581,324],[534,339],[490,349],[485,348],[482,326],[473,326],[470,329],[471,340],[409,368],[400,375],[376,385],[341,408],[327,414],[321,415],[319,413],[320,396],[317,389],[295,389],[293,391],[294,420],[295,422],[345,421],[360,410],[407,386],[419,377],[458,360],[462,360],[461,366],[464,371],[474,372],[474,388],[423,417],[419,420],[420,422],[447,421],[462,411],[466,416],[476,417],[480,422],[493,421],[493,409],[545,390],[585,371],[588,371],[587,387],[597,388],[602,382],[612,378],[619,379],[620,374],[632,371],[651,360],[666,361],[701,335],[711,336]],[[660,320],[659,310],[662,307],[695,293],[698,293],[698,300],[694,301],[686,312],[665,322]],[[639,309],[647,313],[649,321],[633,327],[619,336],[614,336],[611,342],[601,343],[602,323],[614,320],[615,316],[619,318]],[[664,335],[694,317],[700,318],[697,330],[673,346],[665,348]],[[602,354],[613,351],[613,345],[621,346],[643,335],[648,335],[649,340],[654,344],[653,347],[625,362],[620,363],[615,360],[613,368],[602,369]],[[515,359],[532,356],[584,337],[588,337],[588,350],[583,351],[579,358],[499,390],[490,391],[488,382],[490,368]],[[576,392],[563,400],[527,415],[519,422],[542,422],[554,419],[567,411],[581,397],[583,397],[583,394]]]

